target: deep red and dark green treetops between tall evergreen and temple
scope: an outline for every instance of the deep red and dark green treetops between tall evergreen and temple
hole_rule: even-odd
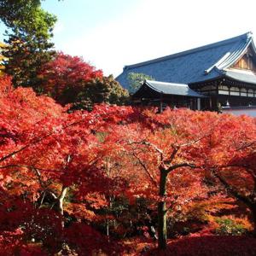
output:
[[[73,103],[73,109],[89,109],[102,102],[123,105],[128,91],[113,79],[103,76],[102,70],[81,57],[59,52],[38,74],[40,93],[51,96],[61,105]]]

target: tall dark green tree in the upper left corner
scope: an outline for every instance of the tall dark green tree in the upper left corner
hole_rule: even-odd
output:
[[[56,17],[44,11],[38,0],[1,1],[0,10],[9,37],[3,49],[5,72],[15,86],[38,90],[38,71],[55,55],[50,38]]]

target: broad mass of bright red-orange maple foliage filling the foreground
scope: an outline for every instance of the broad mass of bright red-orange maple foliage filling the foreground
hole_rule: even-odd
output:
[[[255,119],[156,112],[67,113],[1,78],[0,252],[122,255],[124,237],[154,239],[165,218],[169,238],[253,234]]]

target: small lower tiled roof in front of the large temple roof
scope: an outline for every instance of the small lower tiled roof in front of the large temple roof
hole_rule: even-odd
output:
[[[163,93],[165,95],[177,95],[177,96],[191,96],[191,97],[205,97],[197,93],[195,90],[189,88],[188,84],[173,84],[163,83],[159,81],[145,80],[143,86],[148,86],[150,89]],[[143,86],[141,87],[143,90]],[[138,93],[139,90],[137,91]],[[136,93],[134,95],[136,97]]]

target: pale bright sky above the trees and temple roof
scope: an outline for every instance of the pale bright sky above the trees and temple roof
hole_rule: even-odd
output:
[[[108,75],[125,65],[252,31],[254,0],[45,0],[55,48]],[[1,27],[0,27],[1,29]]]

